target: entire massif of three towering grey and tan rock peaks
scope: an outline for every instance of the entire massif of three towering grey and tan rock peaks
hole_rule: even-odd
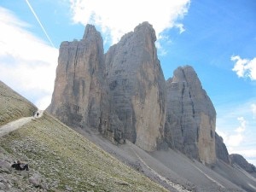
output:
[[[212,164],[212,102],[192,67],[178,67],[165,81],[155,41],[154,28],[143,22],[104,55],[101,34],[87,25],[82,40],[61,44],[47,110],[72,127],[97,129],[113,143],[128,139],[147,151],[169,146]]]

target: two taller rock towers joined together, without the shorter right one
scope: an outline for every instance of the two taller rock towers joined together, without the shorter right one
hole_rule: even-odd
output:
[[[61,44],[49,113],[73,127],[95,127],[114,143],[128,139],[155,150],[166,121],[166,82],[155,40],[144,22],[104,58],[100,33],[87,25],[81,41]]]

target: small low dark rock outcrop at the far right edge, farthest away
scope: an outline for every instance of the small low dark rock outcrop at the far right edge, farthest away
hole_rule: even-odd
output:
[[[256,172],[255,166],[253,166],[253,164],[248,163],[247,160],[244,159],[243,156],[241,156],[241,154],[230,154],[230,160],[232,165],[236,164],[249,173]]]

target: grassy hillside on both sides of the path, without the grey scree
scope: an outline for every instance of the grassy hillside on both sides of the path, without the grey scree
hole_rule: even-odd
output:
[[[32,116],[31,102],[2,82],[0,88],[1,125]],[[10,169],[14,160],[30,170]],[[0,175],[0,190],[15,192],[166,191],[48,113],[0,137]]]

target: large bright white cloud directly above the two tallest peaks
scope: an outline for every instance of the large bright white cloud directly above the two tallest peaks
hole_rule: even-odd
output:
[[[148,0],[70,0],[70,3],[74,23],[100,26],[104,35],[109,34],[116,43],[143,21],[153,25],[157,38],[160,32],[172,27],[184,32],[183,24],[178,20],[187,14],[190,0],[162,0],[160,3]]]

